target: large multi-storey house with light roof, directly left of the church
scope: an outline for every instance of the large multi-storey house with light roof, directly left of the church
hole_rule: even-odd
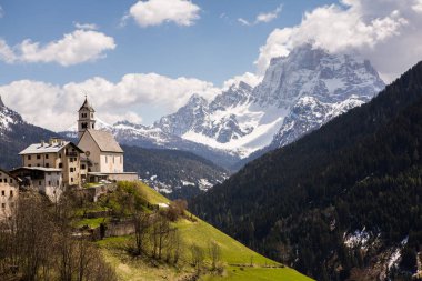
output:
[[[49,142],[33,143],[19,154],[22,157],[23,168],[60,169],[62,184],[72,187],[81,184],[81,153],[83,151],[74,143],[52,138]]]

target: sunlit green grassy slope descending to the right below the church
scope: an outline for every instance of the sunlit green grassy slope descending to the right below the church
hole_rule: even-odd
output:
[[[142,184],[144,194],[151,203],[168,203],[169,200]],[[212,225],[197,219],[195,222],[189,220],[179,220],[178,227],[183,245],[189,249],[189,245],[195,243],[207,251],[208,244],[215,241],[221,248],[221,261],[225,264],[223,277],[205,275],[201,280],[281,280],[281,281],[307,281],[311,280],[301,275],[297,271],[289,268],[262,268],[263,265],[280,265],[279,263],[262,257],[244,247],[240,242],[229,235],[217,230]],[[175,269],[164,263],[151,263],[148,260],[135,260],[123,254],[121,251],[114,251],[117,245],[122,245],[130,238],[109,238],[100,241],[99,244],[103,249],[104,257],[108,262],[114,265],[120,280],[180,280],[184,274],[193,272],[193,269],[188,264],[189,250],[184,251],[181,260],[184,265]],[[252,259],[253,268],[248,267]],[[207,262],[207,261],[205,261]],[[239,264],[244,264],[240,267]]]

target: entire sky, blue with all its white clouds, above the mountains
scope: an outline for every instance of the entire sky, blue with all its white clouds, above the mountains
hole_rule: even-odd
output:
[[[52,130],[86,93],[107,122],[151,124],[310,41],[390,82],[422,59],[421,29],[422,0],[0,0],[0,94]]]

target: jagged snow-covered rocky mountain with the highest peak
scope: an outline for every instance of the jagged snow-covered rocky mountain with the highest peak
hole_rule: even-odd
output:
[[[384,82],[358,54],[332,54],[303,44],[272,59],[262,82],[240,82],[208,102],[192,96],[154,126],[190,141],[240,155],[282,147],[369,101]]]

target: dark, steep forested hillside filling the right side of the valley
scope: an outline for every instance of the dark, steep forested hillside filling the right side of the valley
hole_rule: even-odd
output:
[[[421,140],[422,62],[190,207],[318,280],[410,275],[422,250]]]

